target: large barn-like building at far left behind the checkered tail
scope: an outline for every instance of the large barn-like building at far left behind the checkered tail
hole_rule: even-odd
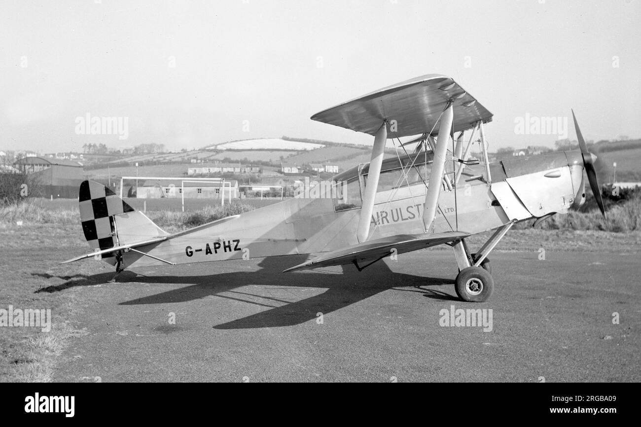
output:
[[[13,163],[13,167],[36,178],[43,197],[78,197],[84,180],[83,166],[71,160],[29,156]]]

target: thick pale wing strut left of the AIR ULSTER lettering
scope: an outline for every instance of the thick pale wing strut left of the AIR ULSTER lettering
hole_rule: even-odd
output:
[[[370,160],[369,163],[363,207],[361,209],[360,219],[358,220],[358,230],[356,231],[356,239],[361,243],[365,242],[369,236],[369,224],[372,221],[372,212],[374,211],[374,198],[376,197],[376,189],[378,188],[378,178],[381,176],[383,155],[385,155],[385,142],[387,142],[387,122],[381,124],[381,127],[376,131],[376,136],[374,137],[372,160]]]

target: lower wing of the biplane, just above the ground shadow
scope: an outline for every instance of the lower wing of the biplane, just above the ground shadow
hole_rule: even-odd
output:
[[[454,242],[469,235],[469,233],[463,233],[462,231],[448,231],[445,233],[399,234],[383,237],[382,239],[370,240],[344,249],[323,253],[303,264],[290,267],[284,272],[329,267],[329,265],[351,264],[354,261],[375,260],[390,255],[392,249],[396,249],[396,253],[417,251],[425,247]]]

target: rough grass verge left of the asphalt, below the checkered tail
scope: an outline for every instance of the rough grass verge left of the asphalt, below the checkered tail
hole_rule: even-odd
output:
[[[74,328],[78,307],[73,292],[42,292],[51,285],[93,274],[95,265],[58,265],[87,242],[74,225],[4,226],[0,228],[0,308],[51,310],[51,329],[0,328],[0,382],[47,382],[58,356],[72,337],[86,333]]]

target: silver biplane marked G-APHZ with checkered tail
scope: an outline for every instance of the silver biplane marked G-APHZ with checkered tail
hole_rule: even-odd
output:
[[[370,162],[334,176],[329,190],[314,197],[299,195],[170,234],[109,188],[84,181],[80,219],[94,252],[65,263],[101,258],[118,274],[306,254],[303,264],[285,272],[332,265],[362,271],[387,256],[446,244],[458,266],[456,294],[487,301],[494,288],[492,249],[516,222],[544,221],[583,204],[584,171],[605,215],[595,156],[572,117],[578,150],[490,163],[484,125],[492,113],[485,106],[447,76],[403,81],[312,116],[374,137]],[[390,141],[395,155],[384,158]],[[472,156],[475,143],[479,154]],[[466,239],[486,231],[494,233],[470,251]]]

